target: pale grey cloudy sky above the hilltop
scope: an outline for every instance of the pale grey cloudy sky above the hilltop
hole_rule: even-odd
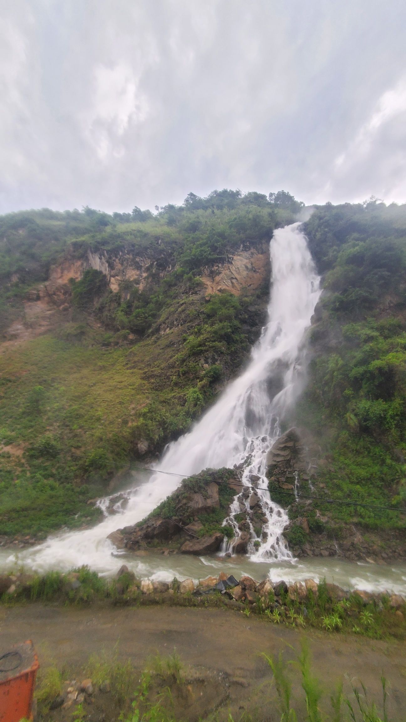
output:
[[[406,201],[404,0],[0,0],[0,212]]]

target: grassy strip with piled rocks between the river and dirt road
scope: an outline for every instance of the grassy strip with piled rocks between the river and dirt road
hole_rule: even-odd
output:
[[[406,638],[406,600],[394,593],[344,589],[325,580],[303,582],[256,581],[248,575],[234,578],[220,573],[194,580],[174,578],[170,583],[137,578],[123,565],[115,578],[99,577],[87,567],[43,577],[17,573],[0,577],[2,604],[46,601],[53,604],[113,606],[194,606],[234,609],[256,614],[275,624],[346,631],[380,639]]]

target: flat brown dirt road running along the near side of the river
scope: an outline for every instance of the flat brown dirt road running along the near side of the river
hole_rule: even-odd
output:
[[[390,683],[389,711],[406,718],[406,645],[363,637],[305,632],[314,672],[326,692],[344,677],[345,691],[362,680],[379,700],[382,672]],[[240,710],[260,708],[272,675],[261,653],[298,651],[303,632],[273,625],[254,616],[222,609],[168,606],[75,609],[29,604],[0,608],[1,648],[32,639],[40,661],[79,670],[90,654],[109,651],[141,668],[147,656],[176,652],[183,662],[223,671],[230,677],[230,704]],[[300,680],[298,680],[299,682]],[[328,697],[328,695],[327,695]]]

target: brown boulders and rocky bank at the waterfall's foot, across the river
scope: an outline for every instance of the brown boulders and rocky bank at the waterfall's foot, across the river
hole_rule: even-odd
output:
[[[341,557],[351,561],[384,563],[406,559],[406,534],[402,529],[365,529],[337,523],[328,511],[330,492],[321,482],[328,463],[321,448],[303,429],[291,428],[277,439],[267,459],[271,499],[288,508],[284,531],[294,557]],[[225,539],[233,539],[233,553],[245,554],[252,532],[254,547],[267,539],[256,484],[241,486],[243,464],[234,469],[205,469],[184,479],[178,490],[134,526],[108,537],[118,549],[155,550],[163,554],[213,554]],[[238,536],[227,520],[230,503],[238,495]]]

